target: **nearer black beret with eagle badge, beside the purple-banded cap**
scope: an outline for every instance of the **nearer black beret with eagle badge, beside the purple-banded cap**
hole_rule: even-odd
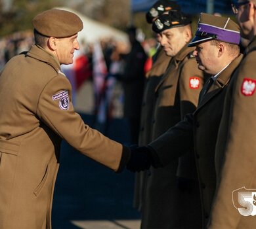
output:
[[[156,33],[161,33],[161,31],[164,31],[165,29],[186,26],[190,23],[190,18],[181,11],[169,11],[168,14],[162,14],[154,20],[152,29]]]

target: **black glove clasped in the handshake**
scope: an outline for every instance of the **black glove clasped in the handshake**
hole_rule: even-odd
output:
[[[127,163],[126,167],[132,172],[139,172],[149,169],[152,165],[153,158],[148,147],[138,147],[137,145],[132,145],[131,158]]]

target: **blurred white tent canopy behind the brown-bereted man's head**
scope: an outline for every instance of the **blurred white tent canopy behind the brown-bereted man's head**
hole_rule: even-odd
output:
[[[83,21],[83,29],[78,33],[79,41],[85,40],[87,43],[93,43],[100,39],[113,37],[116,41],[127,42],[127,35],[123,31],[92,20],[91,18],[87,18],[87,16],[84,16],[79,12],[75,12],[75,10],[63,7],[58,9],[74,12]]]

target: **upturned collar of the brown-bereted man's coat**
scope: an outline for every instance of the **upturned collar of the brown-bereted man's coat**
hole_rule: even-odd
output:
[[[50,52],[47,52],[45,48],[42,48],[39,45],[33,45],[32,48],[30,48],[30,51],[27,54],[31,58],[34,58],[36,60],[39,60],[41,62],[45,62],[49,65],[51,65],[57,73],[60,73],[60,63],[58,60],[51,54]]]

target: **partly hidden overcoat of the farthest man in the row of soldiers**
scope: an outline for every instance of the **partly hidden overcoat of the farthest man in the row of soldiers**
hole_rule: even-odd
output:
[[[155,89],[160,82],[161,76],[165,73],[167,66],[171,60],[161,48],[153,56],[154,63],[152,68],[146,75],[146,82],[144,86],[141,114],[140,114],[140,131],[139,131],[139,146],[147,145],[152,139],[152,117],[155,107]],[[135,175],[135,197],[134,207],[141,209],[141,201],[143,198],[142,190],[144,189],[144,177],[148,171],[141,171]]]

